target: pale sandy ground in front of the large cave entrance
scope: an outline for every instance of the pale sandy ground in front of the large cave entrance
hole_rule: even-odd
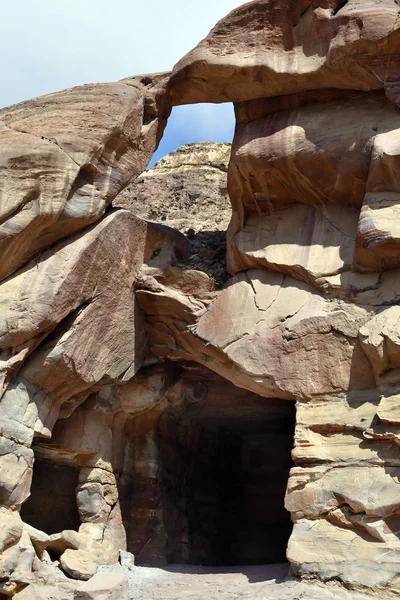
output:
[[[288,579],[287,564],[225,568],[170,565],[163,569],[115,565],[101,570],[128,575],[130,592],[124,600],[371,600],[371,596],[334,584]]]

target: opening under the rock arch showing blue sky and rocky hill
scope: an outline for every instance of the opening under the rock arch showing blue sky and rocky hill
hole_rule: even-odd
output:
[[[170,228],[176,244],[179,234],[186,238],[185,256],[172,259],[166,245],[156,243],[152,266],[171,260],[180,268],[207,273],[218,288],[227,281],[225,238],[232,213],[227,171],[233,133],[231,103],[174,107],[148,169],[114,201]]]

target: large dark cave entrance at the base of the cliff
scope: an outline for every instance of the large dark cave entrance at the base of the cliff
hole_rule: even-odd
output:
[[[189,401],[159,427],[167,562],[285,562],[295,404],[224,380],[192,383]]]

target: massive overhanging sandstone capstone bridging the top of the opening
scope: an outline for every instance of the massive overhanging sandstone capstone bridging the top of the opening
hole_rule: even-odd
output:
[[[173,104],[243,102],[314,89],[398,98],[396,0],[257,0],[222,19],[175,66]]]

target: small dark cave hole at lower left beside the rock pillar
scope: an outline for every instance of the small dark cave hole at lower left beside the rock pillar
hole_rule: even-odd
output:
[[[79,468],[35,459],[31,493],[21,508],[23,521],[51,535],[64,529],[78,531],[76,503]]]

